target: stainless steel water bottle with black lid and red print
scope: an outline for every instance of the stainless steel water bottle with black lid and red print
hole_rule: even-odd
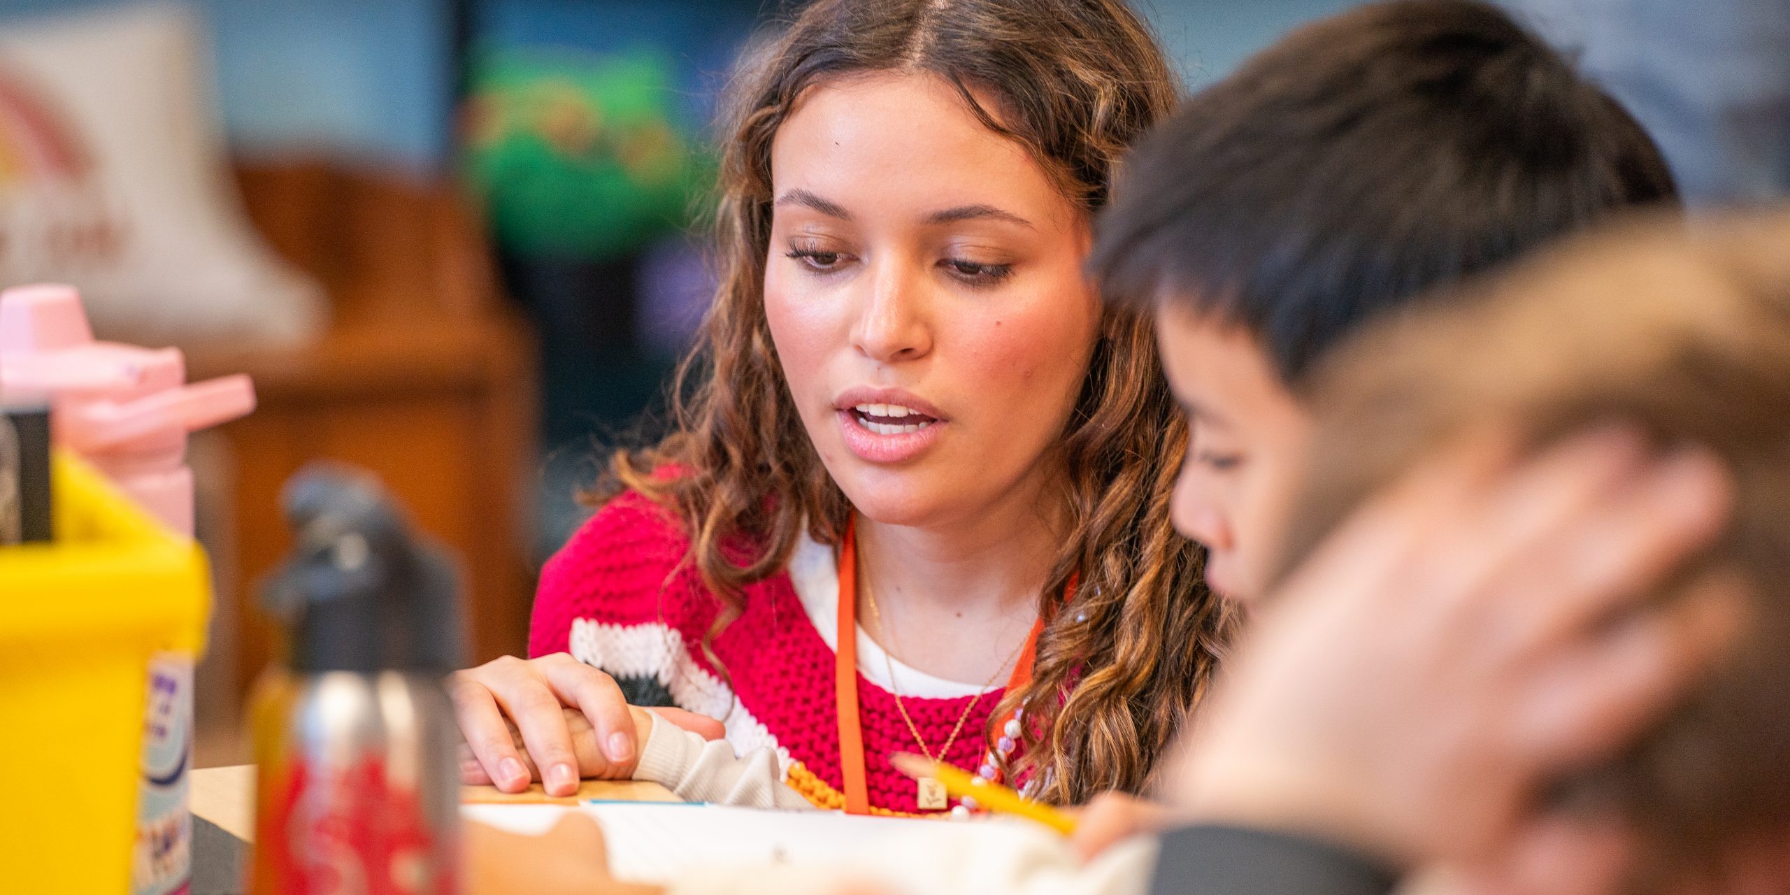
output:
[[[372,480],[286,485],[297,546],[263,601],[288,626],[254,707],[254,895],[455,895],[458,585]]]

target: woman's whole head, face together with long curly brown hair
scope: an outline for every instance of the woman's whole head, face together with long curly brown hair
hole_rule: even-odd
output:
[[[1053,802],[1144,784],[1228,618],[1169,523],[1187,431],[1149,317],[1083,268],[1119,156],[1176,95],[1122,0],[802,5],[729,88],[720,288],[677,431],[614,465],[682,512],[727,605],[854,514],[1042,519],[1044,592],[1079,587],[1040,607],[1033,682],[995,716],[1045,695],[1017,757]]]

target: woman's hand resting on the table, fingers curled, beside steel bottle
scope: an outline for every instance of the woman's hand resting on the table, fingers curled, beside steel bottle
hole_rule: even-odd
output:
[[[621,780],[639,763],[652,718],[628,705],[616,680],[567,653],[501,657],[449,680],[465,737],[462,780],[519,793],[541,780],[569,797],[584,777]],[[655,711],[707,739],[721,723],[680,709]]]

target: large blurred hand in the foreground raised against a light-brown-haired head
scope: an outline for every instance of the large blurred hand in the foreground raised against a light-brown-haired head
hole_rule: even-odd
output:
[[[1629,431],[1520,465],[1511,444],[1414,473],[1264,603],[1172,770],[1176,813],[1473,861],[1720,655],[1735,584],[1650,600],[1726,526],[1718,464]]]

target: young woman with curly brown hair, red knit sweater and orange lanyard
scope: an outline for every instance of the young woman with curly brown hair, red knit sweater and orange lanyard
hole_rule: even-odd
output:
[[[535,659],[458,677],[467,777],[707,761],[655,757],[628,700],[757,757],[709,798],[950,807],[897,752],[1138,791],[1226,616],[1169,524],[1187,433],[1147,319],[1081,265],[1172,102],[1119,0],[822,0],[757,52],[677,431],[542,573]]]

